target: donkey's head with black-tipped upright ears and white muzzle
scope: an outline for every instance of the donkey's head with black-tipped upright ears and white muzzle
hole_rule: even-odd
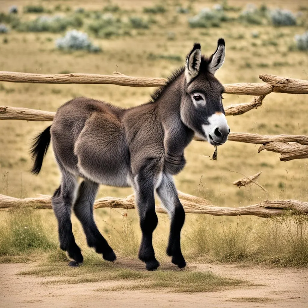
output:
[[[230,132],[222,105],[224,87],[215,72],[225,60],[225,41],[219,39],[217,49],[206,58],[200,44],[195,44],[187,56],[185,95],[181,101],[181,119],[195,134],[212,145],[227,141]]]

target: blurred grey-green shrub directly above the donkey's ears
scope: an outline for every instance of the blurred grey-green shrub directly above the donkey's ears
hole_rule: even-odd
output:
[[[206,7],[197,15],[188,18],[191,28],[219,27],[223,21],[228,21],[228,16],[220,8],[211,10]]]

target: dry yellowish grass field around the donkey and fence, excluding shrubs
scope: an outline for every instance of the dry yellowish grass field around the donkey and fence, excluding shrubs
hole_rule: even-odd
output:
[[[257,8],[265,3],[259,0],[251,2]],[[66,31],[57,33],[19,31],[17,28],[12,29],[12,25],[7,23],[11,27],[10,31],[0,33],[0,69],[41,74],[68,72],[112,74],[114,71],[119,71],[131,76],[168,77],[174,69],[184,65],[185,56],[194,42],[200,42],[203,53],[210,55],[216,49],[217,39],[222,37],[226,43],[226,59],[216,74],[222,83],[261,82],[258,75],[264,73],[308,79],[307,51],[299,51],[294,47],[294,35],[303,34],[308,26],[308,3],[304,0],[275,0],[267,4],[268,9],[281,7],[291,10],[294,14],[301,12],[297,18],[298,25],[280,27],[271,25],[266,17],[262,17],[263,24],[240,21],[238,16],[247,3],[230,0],[226,7],[229,9],[225,11],[229,17],[228,21],[220,22],[219,26],[214,27],[192,28],[188,24],[188,18],[198,14],[204,7],[212,8],[221,2],[1,0],[0,11],[7,14],[9,7],[14,4],[18,7],[17,16],[22,22],[33,21],[40,15],[71,16],[77,14],[74,13],[76,9],[82,7],[85,12],[78,14],[83,25],[77,29],[89,33],[91,41],[101,47],[102,51],[98,53],[61,51],[56,49],[55,40],[62,37]],[[24,13],[23,7],[27,5],[41,5],[45,12]],[[156,5],[162,6],[165,12],[144,11],[145,7]],[[116,6],[119,9],[116,9]],[[188,13],[180,14],[177,11],[179,7],[188,9]],[[147,27],[130,27],[125,33],[113,33],[112,31],[116,29],[111,29],[111,34],[106,32],[107,34],[95,36],[93,31],[89,30],[90,25],[97,22],[91,15],[95,11],[100,15],[112,14],[113,18],[120,18],[121,22],[131,17],[142,17]],[[87,12],[92,13],[87,14]],[[73,28],[68,26],[67,30]],[[0,105],[56,111],[69,99],[87,96],[117,106],[131,107],[147,102],[152,91],[154,88],[116,85],[0,82]],[[224,98],[225,106],[252,100],[252,97],[246,95],[225,94]],[[262,107],[243,115],[229,116],[227,120],[231,132],[307,135],[307,111],[307,95],[271,93],[265,97]],[[17,120],[0,121],[2,177],[0,193],[14,197],[34,197],[35,194],[51,195],[58,187],[59,171],[51,149],[47,153],[39,176],[29,173],[31,140],[50,124],[50,122]],[[215,161],[210,158],[214,151],[213,146],[193,141],[185,150],[187,164],[175,178],[177,188],[185,193],[204,197],[217,206],[238,207],[255,204],[267,198],[307,201],[307,160],[281,162],[279,154],[265,151],[257,153],[257,148],[258,145],[229,141],[218,148],[218,159]],[[268,191],[268,195],[256,185],[237,188],[232,183],[242,176],[232,171],[248,176],[262,171],[258,182]],[[125,197],[131,193],[130,188],[102,185],[98,197]],[[122,210],[98,209],[95,211],[95,220],[119,259],[137,258],[140,231],[135,211],[124,213]],[[76,242],[80,244],[85,257],[85,266],[82,270],[88,273],[88,276],[79,273],[79,276],[73,279],[76,283],[81,277],[93,277],[93,266],[101,266],[104,263],[99,255],[87,248],[81,225],[75,217],[72,217],[72,221]],[[168,228],[167,215],[160,214],[153,241],[157,258],[164,264],[169,262],[165,255]],[[307,231],[306,217],[262,219],[188,214],[182,231],[182,250],[188,262],[240,262],[242,266],[247,264],[300,266],[306,271],[304,268],[308,265]],[[2,211],[0,232],[2,263],[35,262],[38,265],[36,272],[30,271],[28,274],[67,277],[67,269],[64,270],[63,265],[67,259],[57,248],[56,221],[51,210]],[[57,273],[48,270],[47,266],[50,264],[55,266]],[[112,272],[107,265],[104,265],[107,268],[100,268],[100,278],[104,280],[103,276],[107,273],[106,275],[111,277],[109,280],[126,281],[133,277],[132,279],[137,279],[139,283],[144,279],[149,286],[154,288],[158,285],[160,289],[164,289],[169,283],[169,280],[163,277],[164,269],[161,270],[159,278],[153,278],[144,272],[140,274],[140,271],[136,274],[133,267],[128,266],[126,269],[125,264],[124,262],[116,265],[122,269],[120,274],[117,271]],[[170,271],[172,268],[168,267],[165,270]],[[190,271],[193,269],[190,268]],[[183,279],[187,285],[195,281],[198,286],[191,286],[190,292],[215,290],[216,286],[218,289],[228,289],[230,285],[240,288],[242,285],[247,286],[248,283],[242,278],[230,283],[231,278],[216,277],[202,270],[198,271],[200,275],[196,278],[191,276],[193,274],[189,274],[190,271],[188,274],[168,272],[167,276],[182,275],[179,279]],[[90,278],[81,279],[80,282],[91,281]],[[212,287],[200,288],[200,285],[204,286],[205,283]],[[132,288],[138,289],[135,285]],[[181,285],[177,290],[183,291]],[[247,302],[249,296],[245,298]],[[245,304],[244,300],[243,305]]]

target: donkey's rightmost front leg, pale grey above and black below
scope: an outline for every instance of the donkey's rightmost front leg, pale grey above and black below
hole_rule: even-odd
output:
[[[183,268],[186,262],[181,252],[180,233],[184,225],[185,212],[170,174],[163,174],[156,192],[171,220],[167,254],[172,257],[172,263],[178,265],[179,268]]]

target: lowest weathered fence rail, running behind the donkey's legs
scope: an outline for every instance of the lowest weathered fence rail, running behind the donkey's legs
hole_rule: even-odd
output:
[[[290,211],[296,213],[308,213],[308,202],[297,200],[269,201],[262,203],[243,206],[238,208],[213,206],[205,199],[179,193],[181,203],[186,213],[210,214],[214,216],[239,216],[254,215],[258,217],[270,217],[281,215]],[[0,209],[10,208],[34,208],[34,209],[51,209],[51,196],[41,195],[37,198],[19,199],[0,194]],[[134,209],[135,196],[130,195],[126,198],[106,197],[95,201],[94,209],[113,208],[113,209]],[[157,213],[167,213],[161,207],[156,207]]]

